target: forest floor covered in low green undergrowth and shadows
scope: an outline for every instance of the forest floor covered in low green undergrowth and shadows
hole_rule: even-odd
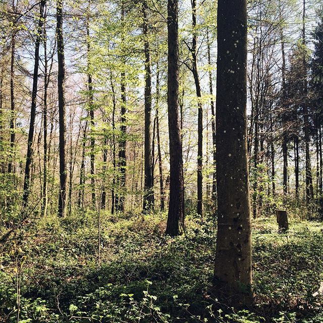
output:
[[[166,214],[97,214],[32,220],[0,249],[0,321],[323,322],[323,225],[253,221],[255,306],[219,306],[210,295],[216,223],[187,216],[164,235]],[[323,288],[321,288],[323,289]],[[18,302],[17,302],[18,299]]]

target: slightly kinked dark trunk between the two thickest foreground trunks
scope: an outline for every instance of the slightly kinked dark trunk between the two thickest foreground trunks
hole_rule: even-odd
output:
[[[192,72],[197,96],[197,214],[203,215],[203,106],[197,69],[196,0],[192,0]]]

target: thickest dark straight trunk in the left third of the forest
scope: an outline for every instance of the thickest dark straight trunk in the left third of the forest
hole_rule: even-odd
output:
[[[59,93],[59,133],[60,133],[60,192],[58,215],[65,216],[66,207],[66,107],[65,107],[65,58],[64,58],[64,38],[63,38],[63,1],[57,0],[57,57],[58,57],[58,93]]]

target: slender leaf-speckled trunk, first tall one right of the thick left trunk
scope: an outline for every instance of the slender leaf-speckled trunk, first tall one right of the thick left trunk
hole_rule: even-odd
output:
[[[88,18],[89,20],[89,18]],[[90,115],[90,125],[91,125],[91,136],[90,136],[90,177],[91,177],[91,198],[92,198],[92,207],[95,209],[96,197],[95,197],[95,137],[93,135],[95,123],[94,123],[94,104],[93,104],[93,83],[92,83],[92,74],[90,72],[90,28],[89,21],[86,25],[86,35],[87,35],[87,86],[88,86],[88,103],[89,103],[89,115]]]

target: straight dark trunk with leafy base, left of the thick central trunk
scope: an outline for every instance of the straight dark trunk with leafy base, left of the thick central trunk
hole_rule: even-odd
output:
[[[147,2],[142,2],[143,14],[143,36],[145,52],[145,178],[144,178],[144,196],[143,212],[149,213],[153,209],[153,185],[152,185],[152,165],[151,165],[151,67],[150,67],[150,49],[148,41],[148,18]]]

